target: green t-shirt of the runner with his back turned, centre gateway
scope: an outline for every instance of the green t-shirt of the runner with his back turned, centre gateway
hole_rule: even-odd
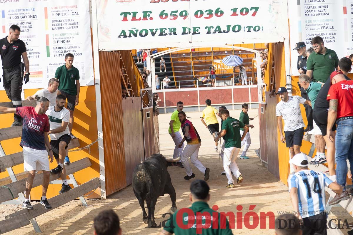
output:
[[[223,121],[222,130],[226,130],[225,148],[241,148],[240,128],[244,128],[245,124],[238,119],[228,117]]]

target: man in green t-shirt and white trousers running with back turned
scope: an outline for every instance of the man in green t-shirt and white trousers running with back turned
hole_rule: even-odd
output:
[[[217,138],[215,138],[215,141],[218,142],[221,137],[225,136],[223,168],[228,179],[227,188],[233,188],[234,180],[231,169],[235,178],[237,178],[237,184],[243,182],[243,177],[241,176],[239,167],[235,160],[237,160],[237,156],[241,148],[241,141],[244,140],[247,131],[249,131],[249,125],[245,125],[239,120],[229,117],[228,110],[221,111],[221,118],[223,120],[222,132],[217,136]],[[240,136],[240,128],[244,128],[244,133],[242,136]]]

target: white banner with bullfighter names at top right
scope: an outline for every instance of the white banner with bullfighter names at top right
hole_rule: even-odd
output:
[[[292,50],[297,42],[309,49],[312,38],[320,36],[339,59],[353,53],[353,0],[289,1],[288,7],[292,75],[300,75],[298,53]]]

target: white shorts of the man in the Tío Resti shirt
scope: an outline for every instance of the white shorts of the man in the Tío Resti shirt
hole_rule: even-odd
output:
[[[24,171],[49,171],[49,159],[47,150],[23,147]]]

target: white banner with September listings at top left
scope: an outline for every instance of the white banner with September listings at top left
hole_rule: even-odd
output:
[[[24,89],[44,88],[56,68],[65,64],[65,54],[74,55],[73,66],[80,73],[80,85],[93,85],[93,62],[89,1],[52,0],[3,1],[0,8],[2,36],[11,25],[21,29],[30,63],[30,80]],[[2,79],[1,79],[2,80]],[[0,89],[4,89],[2,81]]]

